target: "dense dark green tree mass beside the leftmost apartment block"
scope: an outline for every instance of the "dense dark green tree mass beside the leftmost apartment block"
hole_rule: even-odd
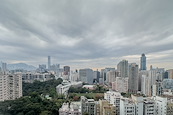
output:
[[[56,86],[62,79],[46,82],[35,81],[23,83],[24,97],[0,102],[0,114],[2,115],[57,115],[59,108],[65,101],[63,96],[56,94]],[[43,94],[41,96],[40,94]],[[48,94],[53,98],[48,100],[44,97]]]

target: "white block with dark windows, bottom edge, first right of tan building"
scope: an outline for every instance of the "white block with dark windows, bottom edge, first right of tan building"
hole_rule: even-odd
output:
[[[128,98],[120,99],[120,115],[136,115],[135,103]]]

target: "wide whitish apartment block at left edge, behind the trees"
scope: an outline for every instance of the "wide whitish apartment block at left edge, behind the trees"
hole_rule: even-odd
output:
[[[0,101],[14,100],[22,96],[22,75],[0,74]]]

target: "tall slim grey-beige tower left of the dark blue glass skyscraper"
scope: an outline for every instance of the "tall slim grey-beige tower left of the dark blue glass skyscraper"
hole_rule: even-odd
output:
[[[128,89],[131,93],[137,93],[138,91],[138,73],[138,65],[136,63],[130,64]]]

